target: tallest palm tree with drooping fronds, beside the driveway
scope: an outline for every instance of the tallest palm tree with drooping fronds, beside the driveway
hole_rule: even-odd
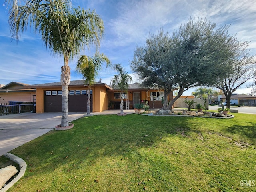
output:
[[[12,2],[8,1],[9,4]],[[16,5],[17,0],[13,0]],[[81,8],[71,9],[68,0],[24,0],[25,5],[10,8],[9,25],[12,37],[18,40],[20,32],[28,25],[42,35],[46,47],[56,56],[63,56],[61,67],[62,119],[61,126],[68,126],[68,85],[70,83],[70,59],[80,50],[100,45],[104,32],[102,19],[95,11]]]

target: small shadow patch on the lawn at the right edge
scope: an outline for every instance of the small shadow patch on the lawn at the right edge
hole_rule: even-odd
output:
[[[256,144],[256,124],[252,122],[246,122],[246,123],[251,124],[251,126],[233,125],[226,128],[225,131],[230,132],[232,134],[238,134],[245,141],[255,145]]]

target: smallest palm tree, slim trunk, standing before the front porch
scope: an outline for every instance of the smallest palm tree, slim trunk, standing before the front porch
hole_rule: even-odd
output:
[[[123,93],[127,91],[129,88],[129,82],[132,82],[132,77],[125,72],[125,69],[120,64],[115,64],[113,69],[118,72],[118,75],[115,75],[112,78],[112,86],[113,88],[117,88],[121,90],[121,103],[120,103],[120,110],[121,115],[124,114],[124,100],[123,100]]]

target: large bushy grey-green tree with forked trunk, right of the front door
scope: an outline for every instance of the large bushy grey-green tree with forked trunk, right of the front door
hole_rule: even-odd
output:
[[[206,19],[190,19],[172,35],[161,29],[137,47],[130,62],[132,71],[144,86],[164,88],[164,108],[172,109],[174,102],[189,88],[211,86],[230,70],[228,58],[234,55],[236,38],[228,35],[228,26],[216,29]],[[167,95],[178,88],[176,98],[167,105]]]

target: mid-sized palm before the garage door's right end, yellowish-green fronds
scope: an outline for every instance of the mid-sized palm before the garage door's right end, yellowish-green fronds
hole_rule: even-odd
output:
[[[86,55],[82,55],[76,65],[76,69],[83,75],[85,83],[88,84],[88,92],[87,92],[87,114],[90,114],[90,103],[91,96],[90,90],[91,86],[94,84],[94,80],[98,75],[98,71],[101,69],[103,62],[107,63],[107,66],[110,65],[110,60],[104,54],[99,54],[96,52],[94,57],[88,57]]]

